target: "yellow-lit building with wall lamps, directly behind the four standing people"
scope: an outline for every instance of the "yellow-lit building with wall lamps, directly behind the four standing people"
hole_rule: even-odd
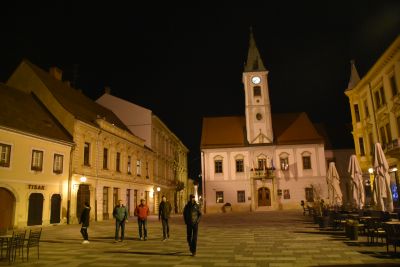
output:
[[[67,216],[77,222],[85,201],[91,218],[112,218],[118,199],[129,212],[141,198],[154,211],[154,152],[110,110],[62,81],[62,71],[43,71],[22,61],[9,78],[9,86],[34,95],[72,136]]]

